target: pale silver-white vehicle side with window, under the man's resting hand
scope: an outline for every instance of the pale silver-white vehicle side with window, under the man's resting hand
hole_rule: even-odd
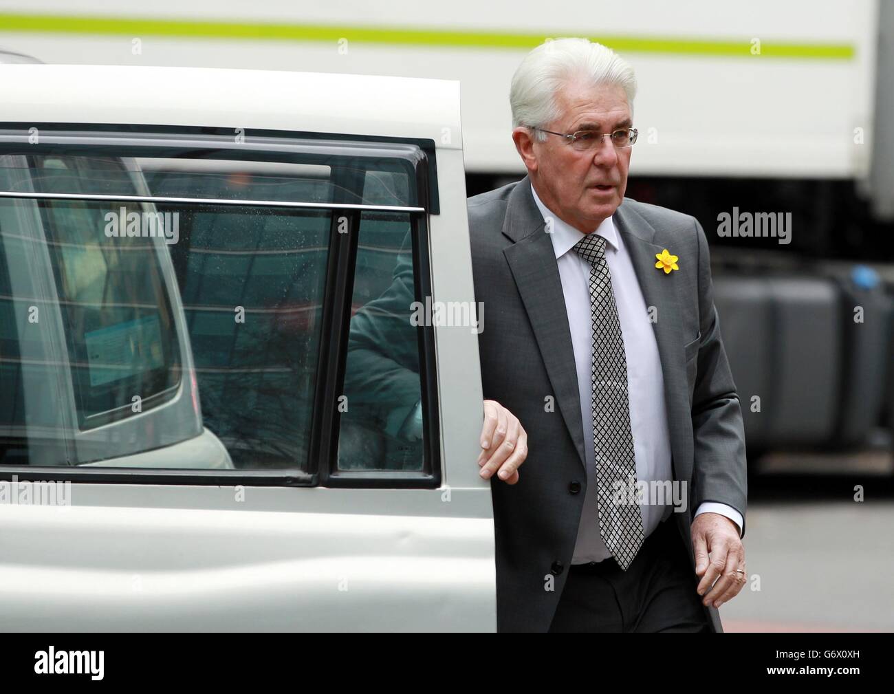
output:
[[[0,629],[495,631],[459,83],[0,83]]]

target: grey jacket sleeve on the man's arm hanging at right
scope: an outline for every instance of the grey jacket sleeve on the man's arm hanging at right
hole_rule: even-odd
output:
[[[698,242],[698,310],[702,338],[692,402],[695,438],[693,485],[698,504],[727,504],[742,514],[745,536],[746,449],[745,427],[736,385],[714,307],[711,258],[701,224],[695,220]]]

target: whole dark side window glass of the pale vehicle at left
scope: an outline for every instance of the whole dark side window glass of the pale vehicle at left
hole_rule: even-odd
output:
[[[0,464],[431,483],[407,300],[424,159],[2,134],[0,191],[22,197],[0,197]],[[342,380],[350,405],[326,419]]]

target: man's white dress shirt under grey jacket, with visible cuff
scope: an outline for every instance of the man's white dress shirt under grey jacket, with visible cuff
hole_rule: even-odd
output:
[[[580,517],[578,540],[571,563],[601,562],[611,556],[599,534],[596,512],[595,444],[593,441],[593,327],[590,316],[590,264],[575,250],[574,245],[586,234],[578,232],[554,215],[537,197],[531,186],[534,201],[544,216],[552,217],[552,248],[559,266],[565,310],[574,346],[574,361],[578,372],[580,413],[584,425],[584,453],[586,457],[586,487],[590,493],[584,499]],[[658,343],[649,322],[643,292],[639,287],[633,262],[624,247],[621,234],[615,229],[611,217],[595,230],[605,237],[605,258],[611,272],[611,288],[618,306],[620,332],[624,337],[624,354],[627,359],[627,385],[630,409],[630,430],[633,434],[634,456],[637,462],[637,480],[651,483],[671,480],[671,432],[668,429],[667,409],[664,403],[664,377],[658,355]],[[687,490],[688,492],[688,490]],[[648,502],[648,498],[644,499]],[[640,504],[643,532],[648,537],[658,524],[670,517],[670,504]],[[696,515],[704,512],[720,513],[738,526],[742,532],[742,515],[728,504],[705,502],[700,504]]]

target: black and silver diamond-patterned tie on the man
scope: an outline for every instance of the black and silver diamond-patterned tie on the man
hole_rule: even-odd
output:
[[[618,307],[605,260],[605,238],[588,233],[574,250],[590,264],[590,318],[593,322],[593,440],[599,533],[620,568],[627,567],[643,544],[639,504],[619,504],[617,484],[627,501],[636,485],[637,462],[630,431],[627,358]]]

